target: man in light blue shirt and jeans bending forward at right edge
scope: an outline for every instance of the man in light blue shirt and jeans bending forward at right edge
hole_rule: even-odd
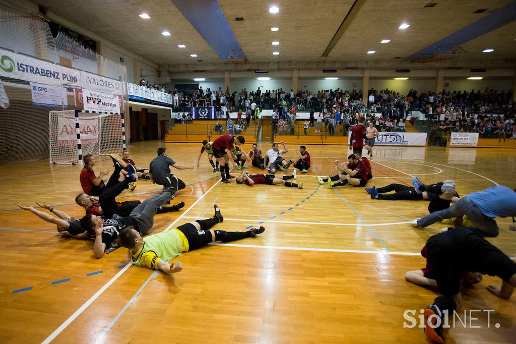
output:
[[[516,189],[498,185],[474,192],[462,197],[448,209],[416,218],[412,221],[412,226],[425,228],[445,218],[462,218],[463,215],[475,225],[469,228],[473,232],[482,237],[497,237],[498,225],[494,217],[516,216]]]

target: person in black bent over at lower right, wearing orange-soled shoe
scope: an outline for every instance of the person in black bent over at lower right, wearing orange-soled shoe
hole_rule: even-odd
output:
[[[516,287],[516,263],[465,227],[430,237],[426,249],[427,265],[442,295],[424,310],[425,335],[433,341],[444,344],[442,320],[446,313],[451,319],[462,306],[460,281],[467,271],[500,277],[502,285],[490,285],[487,290],[502,299],[509,299]]]

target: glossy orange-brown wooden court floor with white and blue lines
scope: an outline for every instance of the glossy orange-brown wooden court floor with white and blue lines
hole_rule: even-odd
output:
[[[132,159],[148,164],[161,144],[134,144]],[[166,146],[182,165],[191,165],[201,148]],[[294,157],[295,147],[289,148],[286,157]],[[61,239],[55,226],[17,209],[18,203],[39,201],[82,216],[84,210],[74,205],[79,166],[2,165],[0,342],[425,342],[421,329],[404,329],[403,314],[427,306],[436,291],[406,282],[404,274],[424,267],[419,252],[444,225],[410,226],[427,213],[426,201],[372,200],[359,187],[319,186],[313,176],[334,173],[333,161],[344,161],[349,151],[339,146],[308,151],[313,165],[298,176],[303,190],[222,184],[205,155],[199,169],[176,170],[188,184],[176,197],[186,207],[157,215],[151,233],[207,217],[214,203],[225,216],[216,228],[246,230],[261,223],[266,231],[183,254],[174,259],[184,264],[175,275],[124,267],[124,249],[96,260],[92,242]],[[453,179],[461,195],[495,184],[514,187],[515,157],[509,149],[378,148],[369,185],[410,184],[419,176],[426,183]],[[101,160],[96,170],[112,170],[109,158]],[[159,190],[139,181],[134,192],[122,196],[144,199]],[[509,219],[497,222],[500,235],[490,241],[515,257]],[[482,328],[459,324],[447,332],[448,342],[514,342],[515,296],[497,299],[485,290],[490,283],[499,280],[485,276],[463,291],[464,309],[495,310],[490,328],[487,313],[477,313],[473,325]]]

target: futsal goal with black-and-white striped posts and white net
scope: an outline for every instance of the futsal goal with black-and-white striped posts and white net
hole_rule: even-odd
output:
[[[123,114],[51,111],[50,163],[83,164],[86,154],[120,154],[125,149]]]

